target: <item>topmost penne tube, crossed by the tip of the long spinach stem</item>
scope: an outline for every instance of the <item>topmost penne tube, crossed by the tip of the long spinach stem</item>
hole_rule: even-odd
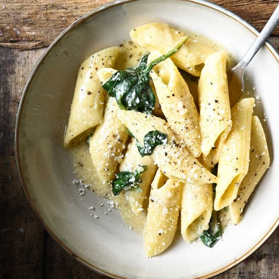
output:
[[[163,54],[172,49],[184,36],[185,33],[172,29],[165,23],[149,23],[130,31],[130,37],[135,43],[149,52],[158,50]],[[188,39],[181,49],[171,56],[171,60],[179,68],[199,77],[206,58],[213,53],[211,48]]]

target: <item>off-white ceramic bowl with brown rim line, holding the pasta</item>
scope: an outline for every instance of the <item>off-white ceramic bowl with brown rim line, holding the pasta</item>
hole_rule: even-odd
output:
[[[130,231],[117,212],[103,214],[107,202],[97,206],[99,198],[88,191],[81,201],[73,185],[72,156],[62,147],[81,62],[128,39],[131,28],[156,21],[202,34],[223,45],[236,59],[258,34],[233,13],[199,0],[118,1],[85,15],[46,50],[24,89],[16,126],[19,173],[26,196],[45,228],[88,267],[114,278],[210,277],[248,257],[279,223],[279,57],[270,44],[251,62],[247,77],[255,82],[268,117],[264,127],[271,166],[241,223],[227,228],[222,241],[212,249],[198,243],[187,245],[178,238],[166,252],[147,259],[142,235]],[[259,110],[259,114],[261,117],[263,112]],[[90,216],[88,207],[92,205],[99,219]]]

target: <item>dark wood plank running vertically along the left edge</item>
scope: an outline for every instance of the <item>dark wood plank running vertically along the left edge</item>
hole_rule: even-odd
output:
[[[15,118],[24,83],[43,50],[0,47],[0,277],[41,278],[44,229],[19,181]]]

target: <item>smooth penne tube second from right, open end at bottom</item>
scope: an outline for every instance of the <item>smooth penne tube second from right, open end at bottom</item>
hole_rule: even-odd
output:
[[[251,121],[254,98],[245,98],[231,110],[232,129],[223,146],[218,164],[218,183],[214,209],[228,206],[237,196],[249,167]]]

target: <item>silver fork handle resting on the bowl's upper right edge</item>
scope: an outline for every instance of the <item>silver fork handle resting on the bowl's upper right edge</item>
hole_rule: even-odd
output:
[[[268,37],[271,35],[273,30],[278,26],[278,24],[279,24],[279,5],[277,6],[274,13],[271,15],[270,19],[267,21],[266,25],[260,32],[258,38],[255,40],[255,42],[252,44],[250,49],[247,51],[247,53],[242,57],[242,59],[234,68],[238,68],[239,70],[242,69],[242,71],[244,72],[247,65],[253,59],[253,57],[261,48],[261,46],[267,41]]]

